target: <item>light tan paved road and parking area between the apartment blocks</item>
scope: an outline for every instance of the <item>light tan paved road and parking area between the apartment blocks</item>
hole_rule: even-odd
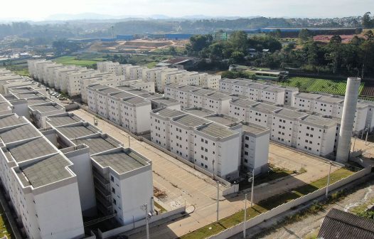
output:
[[[86,122],[93,123],[93,116],[89,112],[75,110],[73,113],[85,119]],[[125,147],[129,146],[129,134],[126,132],[101,119],[99,119],[98,127],[104,133],[108,133],[124,143]],[[169,208],[184,203],[186,203],[186,206],[193,205],[196,208],[189,216],[150,228],[151,238],[176,238],[215,221],[217,188],[212,179],[145,142],[139,142],[137,139],[130,137],[130,144],[132,149],[152,160],[154,186],[166,191],[168,197],[164,200],[164,203]],[[286,162],[287,165],[291,164],[287,162],[287,159],[290,158],[305,161],[304,163],[307,163],[311,168],[317,167],[319,173],[312,174],[311,170],[309,174],[300,174],[279,181],[277,184],[262,186],[256,189],[254,201],[260,201],[269,196],[289,191],[296,186],[314,181],[316,177],[326,176],[327,174],[328,167],[325,167],[326,164],[313,156],[306,156],[277,145],[270,147],[270,153],[272,159]],[[220,201],[220,218],[230,216],[242,210],[244,206],[244,194],[242,193],[235,193],[220,199],[222,199]],[[145,238],[145,233],[144,231],[135,233],[130,238]]]

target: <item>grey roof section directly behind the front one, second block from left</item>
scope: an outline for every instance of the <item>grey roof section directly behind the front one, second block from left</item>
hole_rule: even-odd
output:
[[[90,154],[97,154],[100,152],[107,151],[109,149],[115,149],[120,147],[114,139],[110,137],[90,137],[87,139],[72,139],[75,144],[86,144],[90,147]]]

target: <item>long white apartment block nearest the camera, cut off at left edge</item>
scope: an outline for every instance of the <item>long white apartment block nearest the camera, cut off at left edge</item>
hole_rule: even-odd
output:
[[[82,238],[80,194],[72,162],[27,119],[5,115],[0,122],[1,184],[23,224],[24,236]]]

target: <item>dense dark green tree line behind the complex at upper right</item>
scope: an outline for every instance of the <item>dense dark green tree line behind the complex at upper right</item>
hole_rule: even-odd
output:
[[[342,43],[341,36],[332,36],[328,43],[313,41],[308,30],[300,31],[299,46],[283,44],[274,33],[248,37],[243,31],[231,34],[228,41],[214,41],[213,36],[197,35],[186,46],[188,55],[208,58],[212,63],[250,65],[287,70],[298,68],[311,73],[374,77],[374,34],[354,36]],[[266,53],[263,49],[268,49]],[[253,51],[257,51],[253,54]]]

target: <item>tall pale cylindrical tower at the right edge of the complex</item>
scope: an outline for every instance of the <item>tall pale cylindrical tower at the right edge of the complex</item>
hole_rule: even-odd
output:
[[[339,132],[338,149],[336,150],[336,161],[346,163],[351,150],[351,137],[353,122],[356,116],[358,100],[358,88],[360,78],[348,78],[346,97],[344,98],[343,115],[341,115],[341,130]]]

